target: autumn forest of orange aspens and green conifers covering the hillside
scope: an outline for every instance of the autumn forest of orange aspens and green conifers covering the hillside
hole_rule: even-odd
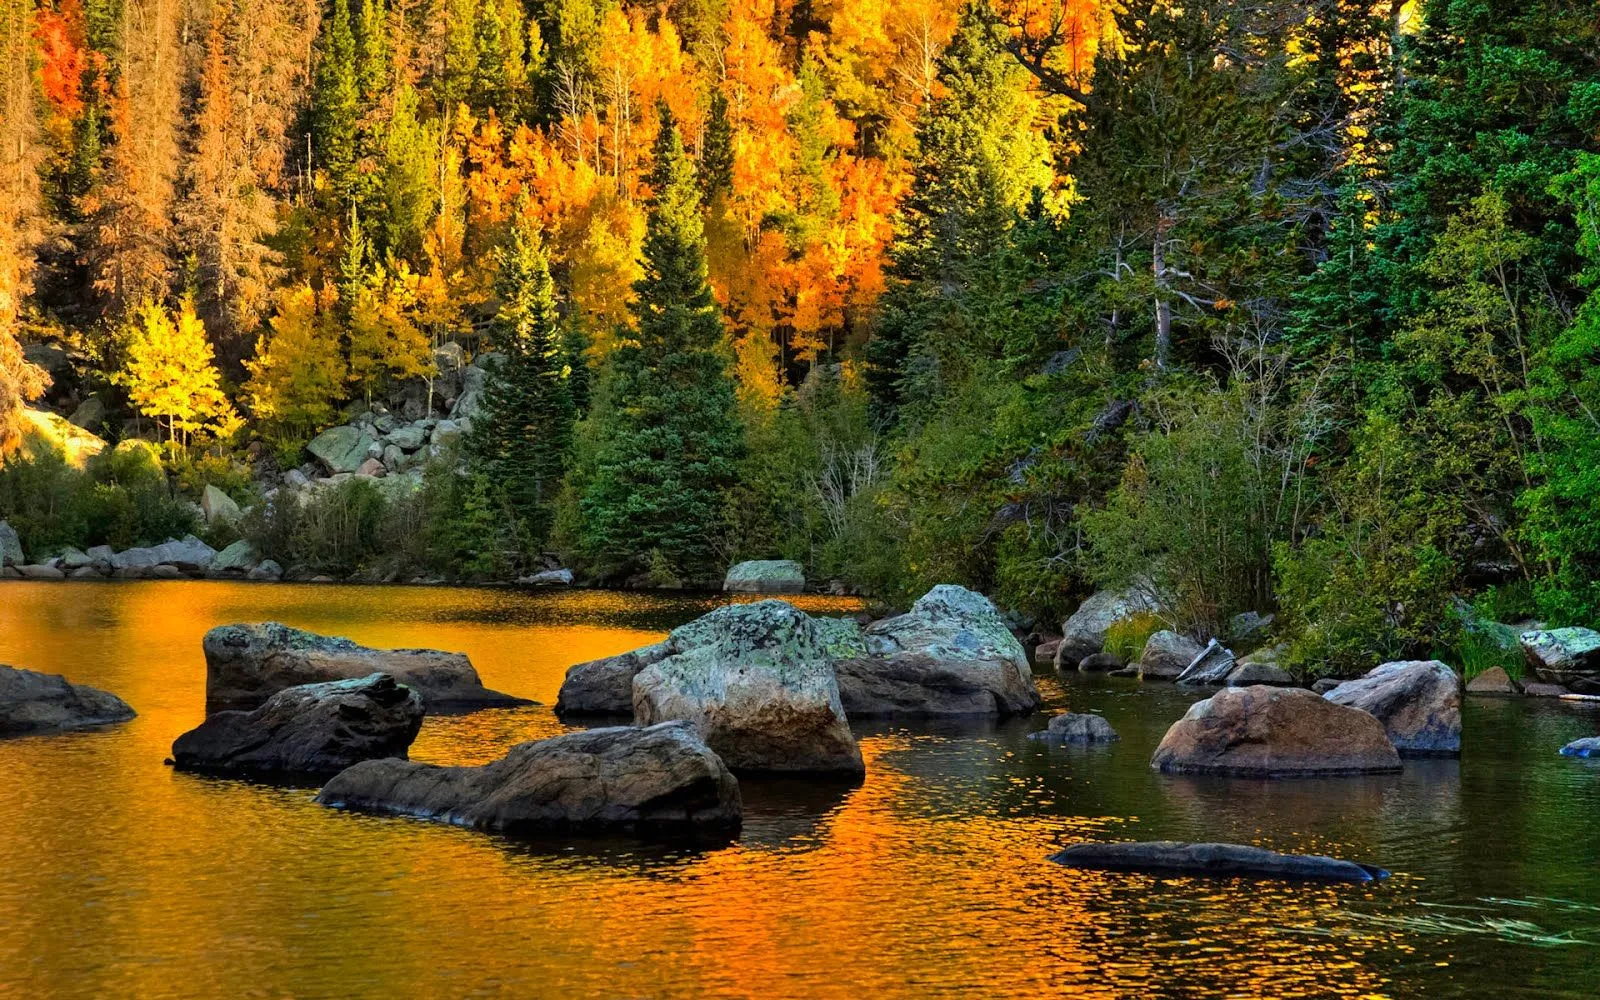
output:
[[[214,485],[307,571],[1136,586],[1307,670],[1600,619],[1592,0],[0,0],[0,54],[30,550]],[[459,358],[414,475],[277,488]],[[152,446],[24,446],[90,397]]]

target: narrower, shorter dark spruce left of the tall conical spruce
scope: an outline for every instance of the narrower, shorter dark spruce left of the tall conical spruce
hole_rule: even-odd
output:
[[[483,384],[467,445],[510,501],[528,539],[539,544],[549,534],[550,507],[571,451],[571,368],[538,229],[518,222],[496,261],[501,306],[490,342],[504,360]]]

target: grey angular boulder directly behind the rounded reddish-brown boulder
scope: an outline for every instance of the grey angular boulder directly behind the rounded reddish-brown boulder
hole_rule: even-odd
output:
[[[1461,677],[1437,659],[1386,662],[1323,698],[1370,712],[1405,757],[1461,754]]]

